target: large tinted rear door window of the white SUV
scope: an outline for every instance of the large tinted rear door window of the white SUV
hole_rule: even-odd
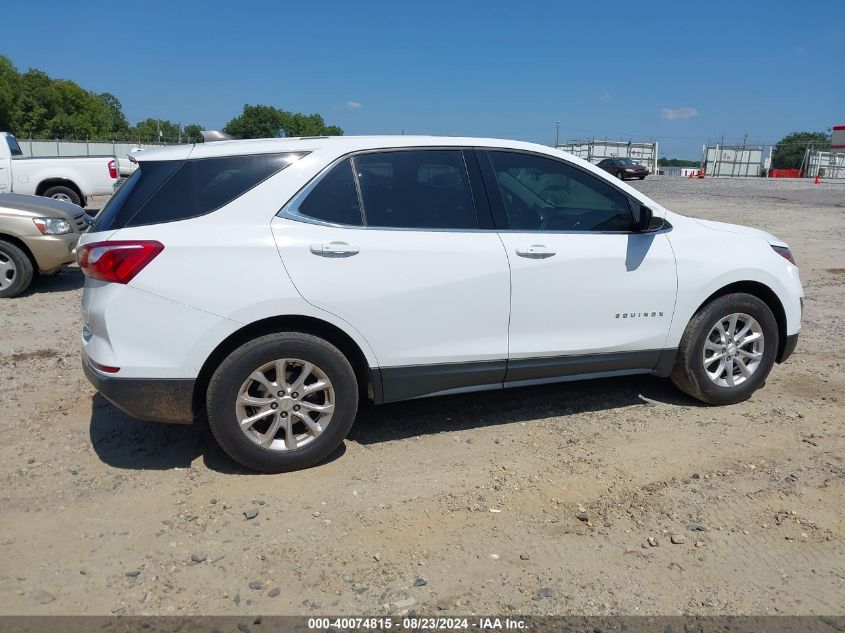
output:
[[[460,150],[406,150],[354,158],[367,226],[475,229]]]

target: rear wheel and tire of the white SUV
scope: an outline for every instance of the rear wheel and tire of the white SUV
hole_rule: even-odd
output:
[[[358,410],[349,360],[300,332],[257,338],[217,368],[206,394],[215,439],[239,464],[278,473],[319,463],[343,442]]]

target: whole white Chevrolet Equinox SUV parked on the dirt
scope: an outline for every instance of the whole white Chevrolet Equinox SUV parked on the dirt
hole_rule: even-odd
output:
[[[797,342],[786,244],[541,145],[268,139],[134,159],[80,241],[86,374],[139,418],[207,417],[249,468],[319,462],[361,400],[652,373],[735,403]]]

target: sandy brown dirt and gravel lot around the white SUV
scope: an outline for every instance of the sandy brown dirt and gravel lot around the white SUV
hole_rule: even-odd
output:
[[[845,612],[845,186],[637,186],[791,244],[798,351],[749,402],[638,377],[386,405],[260,476],[95,395],[78,270],[2,301],[0,613]]]

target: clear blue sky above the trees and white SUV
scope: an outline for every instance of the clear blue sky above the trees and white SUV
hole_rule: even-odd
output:
[[[45,20],[45,16],[49,19]],[[130,122],[245,103],[347,134],[771,142],[845,123],[845,0],[10,2],[0,53]]]

